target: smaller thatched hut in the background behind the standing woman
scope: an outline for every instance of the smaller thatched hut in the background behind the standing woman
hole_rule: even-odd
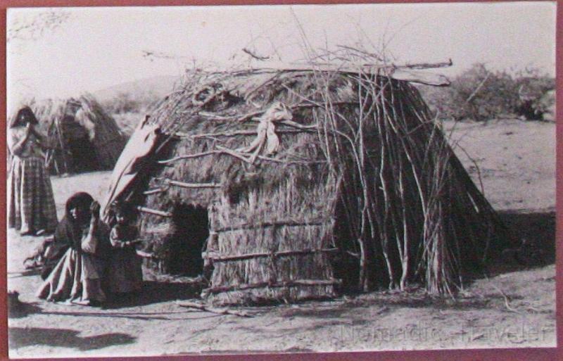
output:
[[[51,174],[113,168],[127,139],[92,96],[32,101],[30,107],[53,146],[46,153]]]

